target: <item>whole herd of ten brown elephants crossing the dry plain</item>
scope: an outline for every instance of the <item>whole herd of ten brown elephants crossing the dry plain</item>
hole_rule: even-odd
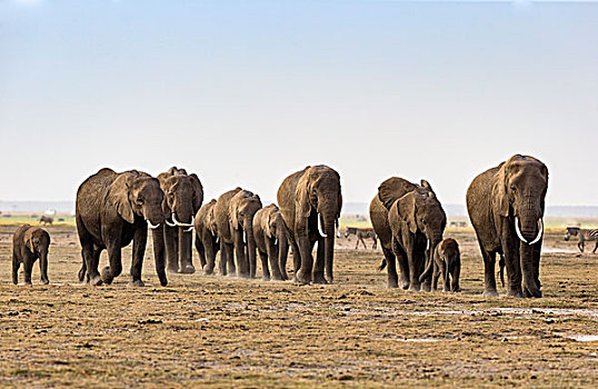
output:
[[[546,166],[517,154],[477,176],[468,188],[467,209],[484,257],[485,296],[498,296],[498,253],[507,268],[508,295],[541,297],[538,276],[547,184]],[[196,271],[193,231],[205,275],[255,278],[259,256],[263,280],[288,280],[287,257],[292,249],[296,282],[333,282],[335,237],[340,237],[342,208],[339,173],[323,164],[307,167],[282,181],[277,200],[278,206],[263,207],[258,194],[235,188],[203,203],[199,178],[185,169],[172,167],[157,178],[137,170],[117,173],[101,169],[77,192],[79,279],[93,286],[111,283],[122,272],[121,248],[132,241],[131,285],[143,286],[141,267],[149,227],[162,286],[168,283],[167,270]],[[380,239],[389,288],[436,289],[442,275],[446,291],[460,290],[459,246],[443,239],[447,217],[428,181],[416,184],[398,177],[387,179],[370,202],[370,218]],[[42,281],[48,282],[50,237],[41,231],[46,232],[23,226],[16,232],[14,283],[21,262],[30,283],[37,258],[41,258]],[[34,246],[40,241],[47,243],[44,252]],[[100,271],[102,250],[108,251],[109,265]]]

